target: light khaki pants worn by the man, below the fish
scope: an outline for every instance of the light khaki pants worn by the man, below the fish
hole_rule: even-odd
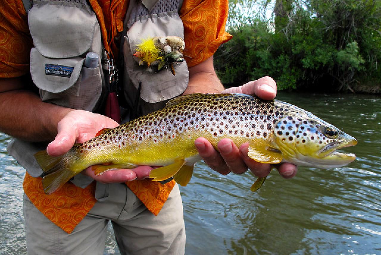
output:
[[[184,254],[185,228],[176,184],[155,216],[121,183],[110,185],[108,198],[96,202],[71,234],[54,225],[24,195],[28,254],[103,254],[107,223],[112,221],[122,254]]]

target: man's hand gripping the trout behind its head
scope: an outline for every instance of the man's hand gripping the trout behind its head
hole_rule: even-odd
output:
[[[255,94],[262,99],[270,100],[276,96],[276,91],[277,85],[275,81],[270,77],[263,77],[239,87],[225,89],[222,93]],[[247,156],[248,143],[244,143],[240,148],[237,148],[231,139],[219,141],[217,145],[219,152],[213,148],[207,139],[202,137],[195,140],[195,146],[205,163],[223,175],[230,172],[242,174],[247,169],[250,169],[257,177],[265,177],[270,173],[272,167],[276,167],[284,178],[291,178],[296,175],[298,170],[295,165],[289,163],[277,166],[258,163]]]

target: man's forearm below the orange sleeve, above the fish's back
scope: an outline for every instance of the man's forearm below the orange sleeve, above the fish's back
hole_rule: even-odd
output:
[[[219,81],[213,67],[213,57],[189,68],[189,83],[184,94],[219,93],[224,86]]]

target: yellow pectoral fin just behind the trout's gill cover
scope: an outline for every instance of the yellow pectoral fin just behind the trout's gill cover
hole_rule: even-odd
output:
[[[249,142],[247,155],[259,163],[278,164],[282,161],[282,152],[269,147],[266,140],[253,139]]]

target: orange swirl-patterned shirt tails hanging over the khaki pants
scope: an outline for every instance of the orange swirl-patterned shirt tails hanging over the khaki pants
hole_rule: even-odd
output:
[[[42,178],[25,174],[23,188],[25,194],[37,209],[51,222],[70,234],[75,226],[88,214],[96,203],[94,198],[96,182],[82,189],[68,182],[54,193],[45,194]],[[175,182],[152,182],[150,179],[126,182],[130,190],[147,209],[157,215],[173,189]]]

